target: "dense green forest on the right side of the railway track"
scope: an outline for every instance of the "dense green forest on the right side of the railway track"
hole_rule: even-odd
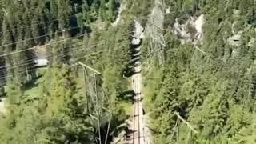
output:
[[[154,143],[175,143],[178,112],[198,134],[194,143],[256,143],[255,133],[255,1],[165,1],[162,34],[164,62],[157,54],[144,66],[146,113]],[[164,6],[163,6],[164,7]],[[205,14],[202,44],[182,43],[174,34],[175,19]],[[238,46],[228,38],[240,34]],[[147,41],[150,41],[147,40]],[[145,42],[144,51],[150,42]],[[156,52],[158,53],[158,52]],[[189,128],[179,126],[179,142]],[[174,137],[172,134],[174,132]]]

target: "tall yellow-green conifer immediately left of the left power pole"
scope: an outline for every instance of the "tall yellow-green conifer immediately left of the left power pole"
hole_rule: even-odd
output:
[[[50,94],[47,97],[46,116],[49,118],[44,131],[50,142],[93,142],[93,127],[85,108],[79,106],[81,101],[75,98],[77,90],[75,71],[66,64],[53,64],[50,74]]]

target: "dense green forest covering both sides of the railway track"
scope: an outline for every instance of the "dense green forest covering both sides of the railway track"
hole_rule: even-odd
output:
[[[121,3],[122,21],[111,26]],[[160,48],[147,33],[156,6]],[[202,14],[202,40],[182,42],[175,22]],[[181,122],[177,132],[175,112],[198,131],[193,143],[256,143],[254,0],[0,0],[0,143],[110,143],[126,130],[134,20],[146,27],[143,106],[153,143],[186,143],[190,129]],[[46,50],[47,67],[36,66],[35,47]]]

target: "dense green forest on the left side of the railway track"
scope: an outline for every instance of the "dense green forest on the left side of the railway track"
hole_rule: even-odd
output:
[[[0,143],[110,142],[125,128],[119,125],[130,115],[133,94],[126,78],[132,23],[127,18],[110,26],[121,1],[0,2],[7,98]],[[34,46],[46,50],[47,67],[34,63]],[[101,74],[85,71],[78,61]]]

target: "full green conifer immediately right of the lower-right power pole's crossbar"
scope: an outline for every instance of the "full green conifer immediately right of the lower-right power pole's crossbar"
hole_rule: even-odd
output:
[[[218,85],[217,85],[218,86]],[[225,95],[225,84],[216,87],[198,110],[191,112],[191,121],[202,129],[202,136],[212,139],[220,134],[228,118],[229,102]]]

